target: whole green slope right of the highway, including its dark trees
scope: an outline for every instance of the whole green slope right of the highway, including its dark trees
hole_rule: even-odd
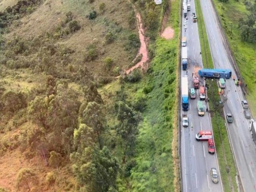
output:
[[[256,116],[256,43],[255,43],[255,5],[254,1],[229,0],[225,3],[214,0],[222,28],[226,33],[232,54],[247,85],[247,100],[250,110]]]

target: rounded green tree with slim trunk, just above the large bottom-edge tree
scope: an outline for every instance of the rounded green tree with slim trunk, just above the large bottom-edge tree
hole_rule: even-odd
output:
[[[102,144],[100,141],[100,134],[103,131],[103,121],[104,116],[102,114],[100,104],[96,102],[89,102],[86,109],[83,112],[83,122],[92,128],[98,136],[98,142],[100,149],[102,149]]]

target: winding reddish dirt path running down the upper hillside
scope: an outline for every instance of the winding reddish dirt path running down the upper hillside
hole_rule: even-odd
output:
[[[133,6],[133,8],[134,8],[134,11],[136,12],[137,26],[138,26],[139,35],[140,35],[140,51],[139,51],[138,55],[142,54],[142,59],[136,65],[134,65],[130,69],[126,70],[126,72],[125,72],[126,74],[129,74],[131,71],[133,71],[134,69],[136,69],[138,67],[141,67],[142,69],[146,69],[148,67],[148,65],[147,65],[148,50],[147,50],[147,46],[146,46],[146,41],[145,41],[144,29],[143,29],[143,26],[142,26],[141,16],[140,16],[140,14],[138,13],[138,11],[136,10],[136,8],[134,6]]]

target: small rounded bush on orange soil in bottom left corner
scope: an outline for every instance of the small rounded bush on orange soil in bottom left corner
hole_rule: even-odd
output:
[[[18,172],[17,176],[17,187],[18,189],[27,189],[31,191],[33,185],[38,184],[38,177],[34,170],[30,168],[22,168]]]

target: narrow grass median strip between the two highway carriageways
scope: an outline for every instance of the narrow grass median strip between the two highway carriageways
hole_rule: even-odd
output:
[[[198,31],[200,37],[200,45],[202,50],[202,60],[205,68],[213,68],[212,56],[210,54],[210,46],[206,34],[204,19],[200,6],[200,1],[195,0],[196,13],[198,16]],[[210,86],[208,97],[210,98],[209,108],[212,117],[212,129],[214,133],[214,142],[218,154],[218,163],[224,191],[236,190],[236,167],[228,140],[228,135],[225,127],[225,120],[222,117],[222,108],[218,106],[220,97],[218,96],[218,86],[216,82],[208,81]],[[226,172],[226,168],[230,170]]]

